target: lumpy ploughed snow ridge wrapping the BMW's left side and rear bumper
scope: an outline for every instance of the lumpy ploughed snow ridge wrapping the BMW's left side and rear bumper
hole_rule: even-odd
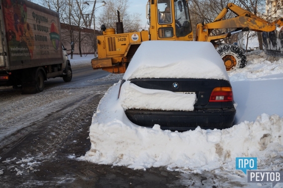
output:
[[[159,125],[131,123],[114,97],[118,91],[115,84],[101,100],[90,126],[91,149],[82,159],[134,169],[167,166],[197,172],[221,166],[234,171],[235,157],[258,157],[261,169],[279,170],[283,165],[283,119],[277,115],[262,114],[255,122],[223,130],[163,131]]]

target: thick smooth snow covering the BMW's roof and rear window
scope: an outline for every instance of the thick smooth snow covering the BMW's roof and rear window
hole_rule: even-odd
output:
[[[223,60],[210,42],[146,41],[123,79],[205,78],[229,81]]]

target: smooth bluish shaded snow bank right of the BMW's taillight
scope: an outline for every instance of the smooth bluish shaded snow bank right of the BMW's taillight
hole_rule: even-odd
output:
[[[273,58],[256,50],[247,53],[246,67],[228,72],[238,104],[234,123],[254,121],[262,113],[283,116],[283,59]]]

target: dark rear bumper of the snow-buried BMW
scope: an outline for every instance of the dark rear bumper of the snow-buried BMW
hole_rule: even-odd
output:
[[[133,123],[153,127],[159,124],[166,130],[194,130],[197,126],[203,129],[224,129],[233,126],[236,109],[206,109],[194,111],[161,111],[128,109],[127,117]]]

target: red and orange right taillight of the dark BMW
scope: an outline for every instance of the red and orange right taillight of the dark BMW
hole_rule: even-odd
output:
[[[209,102],[231,102],[233,91],[231,87],[216,87],[211,92]]]

